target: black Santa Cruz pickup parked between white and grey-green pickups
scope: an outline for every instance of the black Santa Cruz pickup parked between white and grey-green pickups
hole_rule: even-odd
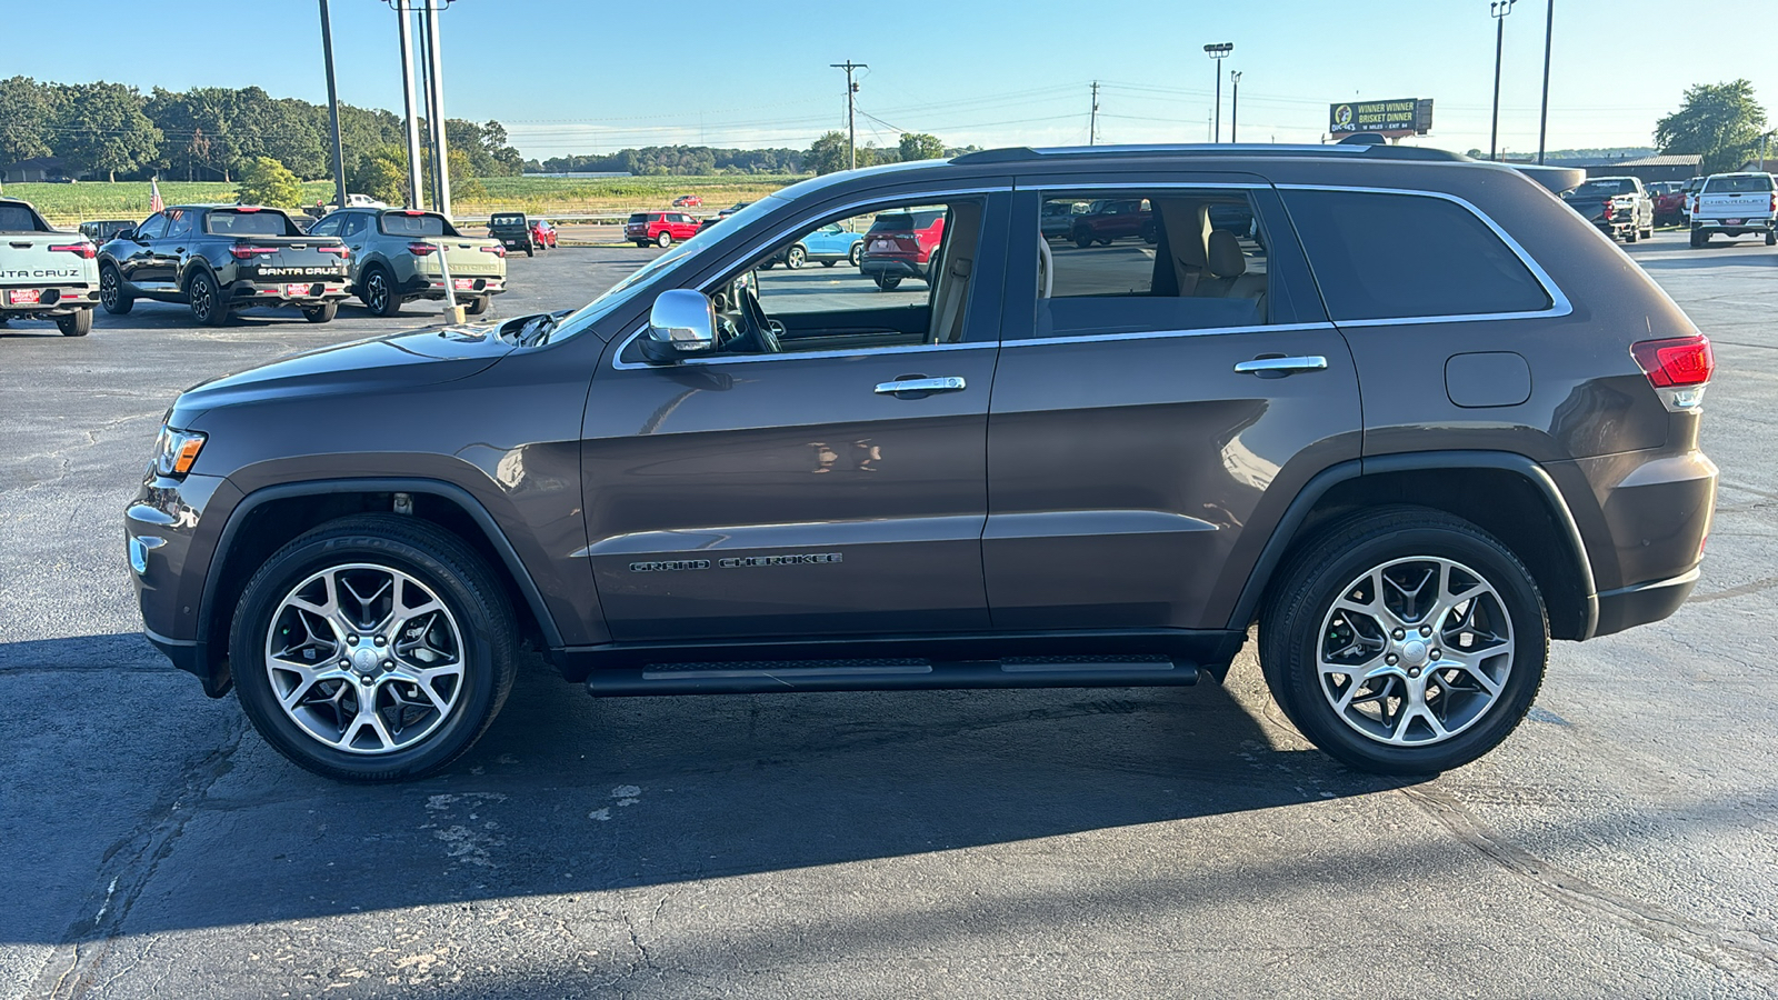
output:
[[[347,295],[340,237],[309,237],[277,208],[174,205],[100,249],[100,304],[112,315],[158,299],[190,306],[204,326],[254,306],[327,322]]]

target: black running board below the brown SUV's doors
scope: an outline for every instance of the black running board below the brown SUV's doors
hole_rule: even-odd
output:
[[[1003,660],[779,660],[605,667],[587,694],[772,694],[802,690],[955,690],[996,687],[1184,687],[1197,664],[1168,657],[1008,657]]]

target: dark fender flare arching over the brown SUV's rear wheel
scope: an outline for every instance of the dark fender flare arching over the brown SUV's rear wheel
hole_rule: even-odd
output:
[[[1296,493],[1291,505],[1285,507],[1284,516],[1278,518],[1278,525],[1271,530],[1271,537],[1266,539],[1266,546],[1259,552],[1259,559],[1253,562],[1252,573],[1248,573],[1246,585],[1241,587],[1241,596],[1236,600],[1234,614],[1229,616],[1229,628],[1246,632],[1246,625],[1253,621],[1253,616],[1259,612],[1259,601],[1266,596],[1266,587],[1271,584],[1273,571],[1277,571],[1278,564],[1284,560],[1284,553],[1289,552],[1291,543],[1296,541],[1296,534],[1309,518],[1309,511],[1314,509],[1328,489],[1341,482],[1366,475],[1447,468],[1511,472],[1526,479],[1543,496],[1550,514],[1556,518],[1556,528],[1563,534],[1568,557],[1574,560],[1575,575],[1586,591],[1581,639],[1590,639],[1598,630],[1598,585],[1593,582],[1593,564],[1586,555],[1586,543],[1581,537],[1581,527],[1574,520],[1574,511],[1568,507],[1568,500],[1556,486],[1556,480],[1550,479],[1550,473],[1545,472],[1536,461],[1517,452],[1485,450],[1371,456],[1350,459],[1316,473]]]

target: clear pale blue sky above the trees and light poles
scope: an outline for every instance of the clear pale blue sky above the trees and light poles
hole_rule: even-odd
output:
[[[1504,148],[1536,148],[1549,2],[1550,148],[1650,144],[1655,117],[1689,84],[1737,77],[1778,123],[1778,2],[1518,0],[1506,21]],[[332,21],[341,100],[400,110],[389,5],[332,0]],[[0,0],[0,25],[14,39],[4,75],[327,94],[316,0]],[[846,59],[869,64],[859,142],[882,146],[898,128],[955,146],[1085,142],[1095,78],[1101,142],[1204,141],[1214,64],[1202,46],[1213,41],[1236,44],[1223,68],[1243,73],[1243,141],[1314,142],[1330,101],[1433,98],[1421,142],[1486,148],[1494,84],[1488,0],[455,0],[441,25],[446,114],[498,117],[539,158],[807,146],[845,128],[845,75],[829,64]],[[57,44],[18,43],[37,37]],[[1709,55],[1693,37],[1710,41]],[[1225,78],[1225,133],[1229,98]]]

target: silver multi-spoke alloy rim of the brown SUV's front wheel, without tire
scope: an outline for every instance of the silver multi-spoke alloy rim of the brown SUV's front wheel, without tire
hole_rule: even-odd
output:
[[[439,596],[373,562],[331,566],[272,614],[265,671],[284,714],[316,742],[388,754],[432,735],[464,689],[464,637]]]

